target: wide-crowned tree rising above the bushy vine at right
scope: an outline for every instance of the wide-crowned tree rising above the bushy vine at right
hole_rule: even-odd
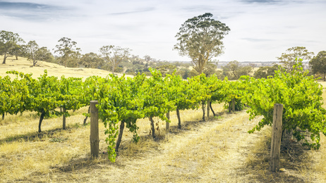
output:
[[[313,52],[309,52],[306,47],[303,46],[295,46],[289,49],[286,49],[286,53],[282,53],[282,56],[277,57],[280,63],[284,64],[284,68],[288,72],[293,70],[293,66],[296,64],[296,58],[301,58],[302,61],[310,61]]]

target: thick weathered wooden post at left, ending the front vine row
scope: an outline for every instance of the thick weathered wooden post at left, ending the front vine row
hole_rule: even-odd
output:
[[[90,156],[99,157],[99,113],[98,101],[90,101]]]

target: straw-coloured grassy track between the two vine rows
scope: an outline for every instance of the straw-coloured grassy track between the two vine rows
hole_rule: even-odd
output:
[[[248,134],[258,120],[249,121],[246,112],[227,114],[219,120],[198,122],[165,136],[157,145],[137,156],[119,156],[116,163],[99,160],[85,168],[54,172],[54,182],[246,182],[244,167],[252,156],[261,132]],[[150,139],[147,139],[147,141]],[[142,146],[142,144],[138,144]],[[145,144],[143,144],[145,145]],[[147,144],[148,145],[148,144]],[[105,158],[105,157],[103,157]]]

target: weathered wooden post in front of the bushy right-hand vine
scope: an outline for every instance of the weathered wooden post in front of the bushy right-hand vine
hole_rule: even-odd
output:
[[[279,170],[279,156],[281,153],[282,138],[282,112],[283,105],[275,103],[272,125],[272,142],[270,147],[270,171],[272,172]]]

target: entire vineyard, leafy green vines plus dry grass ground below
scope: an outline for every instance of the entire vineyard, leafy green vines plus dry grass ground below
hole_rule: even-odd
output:
[[[40,175],[42,179],[37,181],[62,182],[70,179],[92,182],[90,177],[93,176],[97,177],[94,182],[98,182],[126,181],[128,177],[134,176],[132,182],[155,182],[157,176],[161,182],[168,182],[173,180],[170,175],[179,172],[182,175],[180,179],[174,179],[178,182],[218,182],[225,180],[223,174],[235,176],[234,179],[228,179],[231,182],[248,182],[248,179],[255,182],[254,179],[259,176],[250,171],[259,170],[260,175],[265,177],[258,181],[265,182],[273,179],[273,176],[282,181],[277,174],[267,173],[265,164],[258,163],[260,160],[266,163],[265,156],[268,156],[267,137],[270,136],[270,128],[263,127],[272,125],[274,103],[282,103],[282,130],[285,134],[291,132],[294,137],[284,141],[300,142],[302,146],[296,147],[299,149],[320,149],[296,154],[288,148],[286,152],[291,156],[292,164],[296,164],[294,167],[301,173],[296,176],[296,172],[289,171],[288,177],[284,175],[283,178],[294,182],[315,181],[313,175],[304,178],[311,170],[308,167],[300,168],[297,158],[304,161],[311,153],[321,156],[320,151],[325,151],[325,141],[323,144],[322,140],[325,139],[323,135],[326,135],[326,111],[322,107],[322,85],[302,70],[300,61],[294,65],[292,72],[279,68],[274,77],[259,80],[248,76],[236,81],[227,78],[219,80],[215,75],[198,75],[182,80],[179,75],[162,77],[159,71],[150,71],[152,77],[108,75],[91,76],[85,80],[80,77],[49,76],[47,70],[36,79],[31,74],[8,71],[7,76],[0,77],[1,118],[3,121],[7,121],[6,118],[23,118],[27,121],[24,123],[26,126],[37,125],[37,132],[11,134],[11,130],[15,129],[6,127],[17,127],[18,130],[20,127],[1,123],[1,179],[5,182],[28,181],[29,176]],[[102,154],[99,159],[93,160],[90,160],[87,152],[89,135],[85,134],[89,130],[85,118],[89,117],[91,100],[99,101],[97,108],[102,121]],[[78,122],[67,125],[71,119]],[[28,124],[28,120],[37,122]],[[44,130],[45,120],[47,126],[49,122],[56,123],[55,127]],[[48,141],[47,145],[43,146],[42,141]],[[20,145],[23,143],[27,144]],[[250,143],[259,147],[253,149]],[[32,146],[40,153],[41,157],[37,159],[42,161],[42,158],[53,156],[51,162],[42,165],[31,163],[34,160],[28,152]],[[60,150],[54,150],[52,146]],[[11,154],[20,155],[15,159]],[[240,156],[246,159],[236,159]],[[142,176],[137,176],[140,173],[137,164],[128,164],[133,158],[143,163],[140,167],[145,168],[147,174],[143,172]],[[234,158],[238,160],[235,164],[231,160]],[[30,164],[22,167],[35,169],[35,172],[25,175],[25,170],[15,168],[14,164],[20,165],[20,161]],[[162,164],[160,161],[163,161]],[[183,164],[185,162],[188,164]],[[283,164],[286,163],[284,160]],[[308,162],[301,163],[305,165]],[[320,163],[325,163],[325,160],[320,160]],[[7,169],[6,165],[9,164],[11,166]],[[239,170],[240,174],[228,169],[227,165],[231,164],[236,166],[235,170]],[[226,168],[223,169],[221,165],[226,165]],[[127,167],[133,168],[132,171],[123,172],[123,168]],[[74,172],[88,169],[97,175],[83,172],[88,177],[85,179],[78,177],[78,174],[73,175]],[[319,170],[316,173],[323,175],[320,179],[325,181],[325,168]],[[105,171],[109,173],[106,174],[107,178],[102,179],[101,175]],[[13,172],[20,174],[16,175],[18,179]],[[114,172],[118,175],[114,175]],[[126,179],[117,179],[119,174],[126,176]],[[250,176],[246,177],[246,174]],[[115,178],[110,179],[110,176]]]

